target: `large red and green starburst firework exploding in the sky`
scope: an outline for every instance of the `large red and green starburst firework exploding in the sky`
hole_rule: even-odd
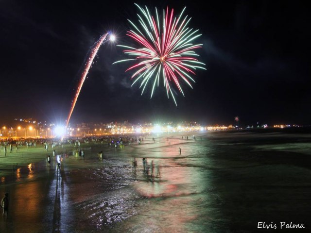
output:
[[[195,75],[194,70],[197,68],[206,69],[202,67],[205,66],[204,63],[194,58],[199,55],[193,50],[201,48],[202,44],[193,45],[192,41],[201,34],[197,34],[198,30],[192,30],[187,26],[191,18],[183,17],[186,7],[177,18],[173,17],[174,10],[169,10],[167,7],[166,11],[163,10],[161,25],[156,8],[156,18],[154,18],[150,15],[147,7],[144,9],[138,5],[137,7],[142,14],[142,16],[138,14],[138,26],[140,26],[138,27],[128,20],[134,29],[128,31],[126,35],[134,39],[139,44],[139,48],[119,45],[126,48],[123,50],[125,54],[134,56],[135,59],[125,59],[115,63],[132,60],[138,62],[126,71],[137,69],[131,79],[136,78],[132,85],[138,80],[141,81],[139,86],[139,88],[142,87],[141,95],[148,82],[153,78],[150,98],[153,96],[155,86],[159,86],[159,79],[162,77],[167,97],[169,98],[169,93],[171,93],[177,106],[171,88],[172,83],[185,96],[180,81],[187,83],[192,88],[190,81],[193,83],[195,81],[190,75]]]

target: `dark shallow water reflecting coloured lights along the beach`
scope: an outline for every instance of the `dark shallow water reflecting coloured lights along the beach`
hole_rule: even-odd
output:
[[[104,149],[103,162],[97,145],[85,160],[66,158],[60,172],[44,163],[21,168],[17,183],[0,186],[10,194],[0,232],[271,231],[257,229],[259,221],[310,230],[309,134],[159,135],[156,142],[153,136]]]

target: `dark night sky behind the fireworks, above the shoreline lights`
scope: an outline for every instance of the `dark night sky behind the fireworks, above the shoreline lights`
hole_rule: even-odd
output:
[[[193,89],[167,99],[163,83],[150,100],[131,86],[130,64],[115,44],[99,50],[72,122],[196,120],[204,124],[311,123],[310,8],[304,1],[136,1],[154,7],[187,6],[190,27],[203,35]],[[0,123],[33,117],[64,121],[89,48],[107,32],[117,44],[127,19],[138,22],[131,1],[0,0]],[[13,121],[14,123],[14,121]]]

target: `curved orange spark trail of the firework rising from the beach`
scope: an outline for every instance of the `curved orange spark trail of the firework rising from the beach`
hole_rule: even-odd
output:
[[[70,117],[71,117],[71,114],[73,112],[73,109],[74,109],[74,106],[76,105],[76,102],[78,100],[78,96],[80,94],[80,91],[81,91],[81,88],[83,86],[83,83],[84,81],[86,80],[86,75],[88,73],[88,70],[90,69],[90,67],[92,66],[93,64],[93,60],[99,50],[99,48],[101,47],[101,45],[104,44],[104,42],[107,41],[107,36],[109,35],[109,33],[105,33],[104,35],[102,35],[99,40],[93,45],[93,47],[90,49],[90,52],[89,52],[89,56],[86,58],[86,63],[85,63],[85,66],[84,66],[84,69],[83,69],[83,72],[81,74],[81,79],[80,79],[80,83],[78,85],[78,88],[77,88],[77,91],[75,93],[75,96],[74,96],[74,99],[72,100],[71,102],[71,108],[70,108],[70,111],[69,111],[69,115],[67,117],[67,123],[66,123],[66,128],[68,127],[68,124],[69,124],[69,120],[70,120]]]

